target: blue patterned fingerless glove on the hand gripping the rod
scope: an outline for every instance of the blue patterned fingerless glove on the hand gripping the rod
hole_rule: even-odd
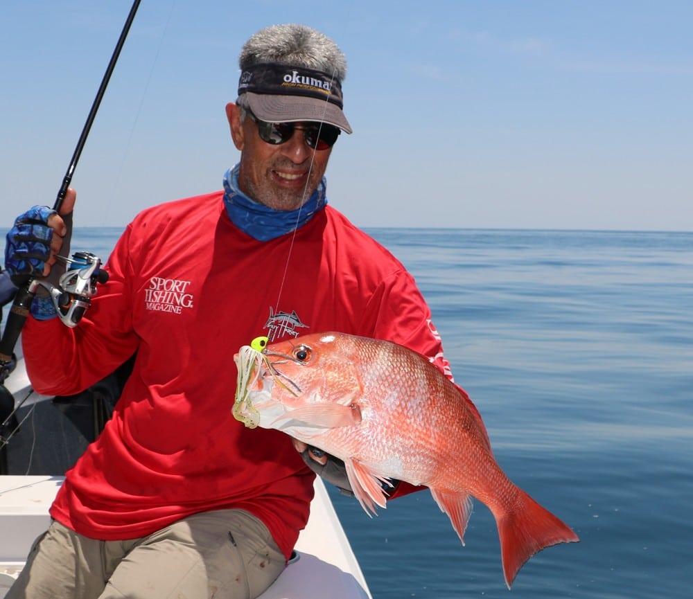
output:
[[[15,226],[7,233],[5,268],[10,274],[12,283],[17,287],[24,285],[30,278],[43,276],[46,261],[51,258],[53,229],[48,226],[48,220],[53,214],[56,212],[48,206],[33,206],[17,217]],[[67,234],[63,238],[61,254],[68,256],[72,234],[72,214],[64,215],[62,219],[67,226]],[[58,285],[64,271],[64,264],[57,262],[51,267],[51,273],[45,280]],[[38,287],[30,312],[37,320],[48,320],[57,315],[53,300],[44,287]]]

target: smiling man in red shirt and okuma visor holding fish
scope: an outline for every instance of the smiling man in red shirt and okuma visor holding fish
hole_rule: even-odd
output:
[[[277,578],[308,519],[314,475],[290,438],[231,415],[233,355],[254,337],[390,339],[449,373],[412,276],[326,206],[332,147],[351,133],[342,52],[310,28],[273,26],[245,44],[240,70],[226,107],[240,161],[225,189],[138,215],[77,328],[35,301],[23,343],[40,393],[76,393],[137,357],[10,599],[256,597]],[[70,190],[63,215],[74,199]],[[32,260],[35,247],[23,253],[16,238],[44,223],[53,235],[33,246],[45,260]],[[48,273],[65,233],[62,217],[33,208],[8,235],[8,268]],[[402,483],[393,496],[411,490]]]

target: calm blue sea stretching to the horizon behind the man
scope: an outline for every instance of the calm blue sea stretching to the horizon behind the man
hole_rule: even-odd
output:
[[[105,258],[117,233],[73,248]],[[690,597],[693,233],[369,233],[416,276],[500,465],[581,537],[507,591],[480,502],[463,547],[428,492],[374,519],[333,493],[374,599]]]

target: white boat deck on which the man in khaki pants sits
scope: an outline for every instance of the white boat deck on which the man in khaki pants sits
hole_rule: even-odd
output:
[[[24,566],[34,539],[49,526],[59,476],[0,476],[0,599]],[[320,479],[310,520],[289,564],[261,599],[371,599],[361,569]]]

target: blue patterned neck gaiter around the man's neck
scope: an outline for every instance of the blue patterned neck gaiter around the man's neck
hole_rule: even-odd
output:
[[[238,189],[238,170],[237,164],[224,175],[224,205],[231,222],[258,241],[270,241],[304,226],[327,204],[326,182],[323,177],[303,206],[296,210],[274,210],[254,202]]]

